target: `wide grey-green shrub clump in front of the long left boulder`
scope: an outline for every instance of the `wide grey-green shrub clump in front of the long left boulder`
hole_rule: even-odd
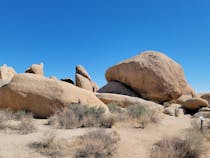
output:
[[[72,129],[79,127],[111,127],[114,120],[105,117],[103,108],[72,105],[56,112],[49,118],[49,125],[56,128]]]

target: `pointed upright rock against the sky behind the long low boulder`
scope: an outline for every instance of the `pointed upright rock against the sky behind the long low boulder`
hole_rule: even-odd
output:
[[[76,66],[76,75],[75,75],[76,86],[86,89],[91,92],[96,92],[98,86],[93,82],[82,65]]]

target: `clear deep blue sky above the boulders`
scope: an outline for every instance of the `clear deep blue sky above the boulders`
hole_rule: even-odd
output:
[[[0,64],[74,79],[82,64],[100,86],[110,66],[145,50],[180,63],[210,91],[209,0],[0,0]]]

